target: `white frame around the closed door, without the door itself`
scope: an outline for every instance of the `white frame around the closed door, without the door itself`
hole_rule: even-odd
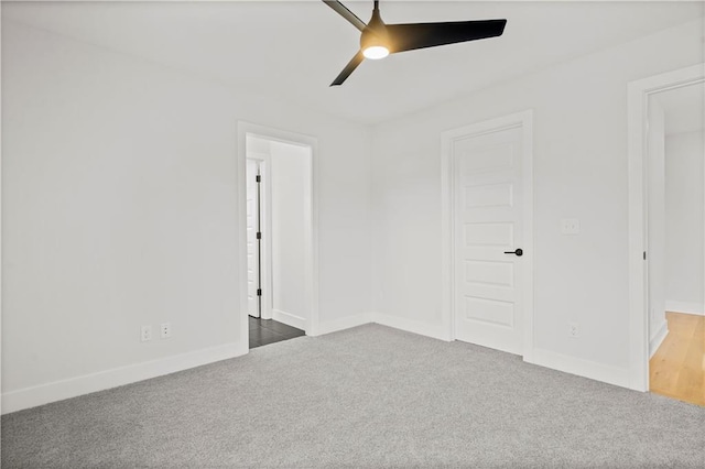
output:
[[[453,143],[467,137],[480,137],[505,129],[522,129],[522,185],[523,185],[523,239],[522,275],[522,356],[524,361],[533,360],[533,110],[502,116],[476,122],[441,133],[441,222],[442,222],[442,321],[444,339],[455,340],[455,157]]]

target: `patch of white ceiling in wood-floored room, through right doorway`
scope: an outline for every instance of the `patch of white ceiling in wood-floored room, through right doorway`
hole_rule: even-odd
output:
[[[705,129],[705,83],[660,92],[655,98],[665,114],[665,134]]]

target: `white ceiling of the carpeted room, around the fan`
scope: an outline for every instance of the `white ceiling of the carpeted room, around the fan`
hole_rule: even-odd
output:
[[[364,21],[371,1],[344,2]],[[388,23],[506,18],[501,37],[366,61],[328,85],[359,32],[321,1],[2,3],[4,20],[133,54],[362,123],[703,15],[703,2],[382,1]]]

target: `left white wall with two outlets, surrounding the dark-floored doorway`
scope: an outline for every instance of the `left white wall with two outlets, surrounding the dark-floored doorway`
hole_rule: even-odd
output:
[[[321,320],[370,310],[369,129],[6,20],[2,72],[3,412],[247,350],[240,119],[318,139]]]

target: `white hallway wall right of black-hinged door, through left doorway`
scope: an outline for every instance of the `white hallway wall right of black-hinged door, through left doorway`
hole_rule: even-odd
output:
[[[310,317],[305,295],[305,205],[310,204],[306,187],[311,149],[271,142],[271,161],[272,308],[274,319],[300,327],[296,323]]]

